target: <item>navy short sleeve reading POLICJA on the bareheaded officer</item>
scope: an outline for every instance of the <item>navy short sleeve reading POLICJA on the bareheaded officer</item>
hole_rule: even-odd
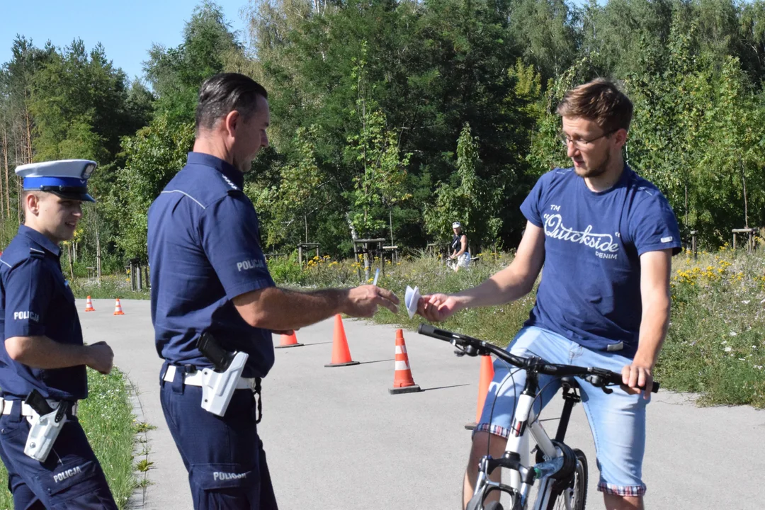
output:
[[[258,216],[246,197],[229,196],[208,206],[200,234],[226,297],[274,286],[260,248]]]

